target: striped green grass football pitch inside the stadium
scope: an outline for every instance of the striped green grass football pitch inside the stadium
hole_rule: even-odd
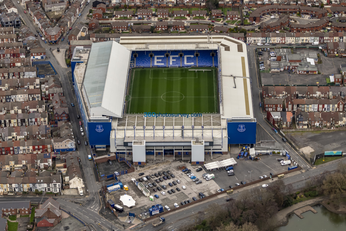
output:
[[[216,68],[134,68],[127,113],[219,113]]]

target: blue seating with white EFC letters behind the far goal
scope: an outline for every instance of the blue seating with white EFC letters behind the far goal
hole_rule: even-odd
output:
[[[170,56],[166,57],[166,53],[169,53]],[[180,53],[183,53],[180,63]],[[166,67],[170,65],[177,65],[179,67],[190,67],[197,66],[197,57],[195,53],[198,52],[198,66],[213,66],[213,57],[211,53],[214,52],[214,66],[218,66],[218,52],[216,50],[184,50],[184,51],[133,51],[131,53],[131,66],[133,67],[134,63],[134,53],[137,54],[136,66],[137,67],[150,67],[151,57],[150,53],[153,53],[152,57],[152,66],[153,67]],[[156,58],[155,58],[156,57]],[[167,64],[168,61],[168,64]]]

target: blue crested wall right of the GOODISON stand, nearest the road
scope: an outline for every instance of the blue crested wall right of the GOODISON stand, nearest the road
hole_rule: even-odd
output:
[[[228,144],[255,144],[256,122],[228,122]]]

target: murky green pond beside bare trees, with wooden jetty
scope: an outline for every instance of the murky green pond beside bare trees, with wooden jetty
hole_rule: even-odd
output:
[[[337,214],[328,211],[323,205],[312,206],[317,213],[311,211],[302,213],[303,219],[300,219],[294,213],[289,215],[289,222],[286,226],[281,226],[279,231],[297,231],[297,230],[326,230],[326,231],[345,231],[346,214]]]

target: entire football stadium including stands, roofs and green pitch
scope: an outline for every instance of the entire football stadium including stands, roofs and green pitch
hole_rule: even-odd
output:
[[[256,143],[246,44],[227,35],[121,36],[75,47],[73,85],[91,148],[203,164]]]

